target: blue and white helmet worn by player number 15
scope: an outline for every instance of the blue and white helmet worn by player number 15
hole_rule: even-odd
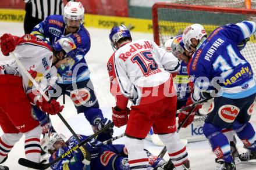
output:
[[[121,24],[120,26],[114,26],[109,34],[109,39],[111,41],[112,48],[115,48],[117,50],[117,42],[125,37],[131,39],[130,30],[126,28],[126,26],[124,26],[123,24]]]

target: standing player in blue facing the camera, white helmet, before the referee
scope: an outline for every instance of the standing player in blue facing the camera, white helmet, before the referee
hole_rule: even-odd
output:
[[[99,109],[99,103],[94,93],[93,83],[90,79],[90,71],[84,56],[90,50],[91,39],[88,31],[83,26],[84,7],[81,2],[68,2],[64,8],[64,15],[51,15],[35,26],[31,34],[38,38],[48,38],[55,50],[68,48],[67,59],[58,65],[59,79],[57,85],[62,89],[60,95],[69,96],[77,113],[84,113],[86,119],[97,132],[110,120],[104,118]],[[61,41],[69,41],[72,44],[62,46]],[[111,135],[109,131],[107,135]]]

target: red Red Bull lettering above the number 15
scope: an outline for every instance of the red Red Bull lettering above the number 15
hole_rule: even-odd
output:
[[[134,43],[130,45],[130,49],[127,52],[121,53],[119,58],[125,62],[131,56],[131,53],[134,53],[140,49],[153,49],[153,47],[148,41],[144,41],[144,44]]]

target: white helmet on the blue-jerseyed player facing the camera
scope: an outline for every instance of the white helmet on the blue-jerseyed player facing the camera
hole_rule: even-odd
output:
[[[68,26],[79,27],[84,22],[84,6],[81,2],[68,2],[64,8],[64,21]]]

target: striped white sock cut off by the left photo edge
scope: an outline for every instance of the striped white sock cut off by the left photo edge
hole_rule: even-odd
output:
[[[0,162],[2,162],[12,150],[16,142],[22,138],[22,133],[4,133],[0,138]]]

